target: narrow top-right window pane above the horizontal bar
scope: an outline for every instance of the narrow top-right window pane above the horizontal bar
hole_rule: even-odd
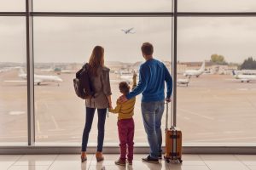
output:
[[[178,12],[254,12],[253,0],[178,0]]]

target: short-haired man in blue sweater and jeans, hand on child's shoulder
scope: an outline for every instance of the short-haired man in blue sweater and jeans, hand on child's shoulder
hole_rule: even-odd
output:
[[[148,135],[150,154],[143,161],[159,163],[161,159],[161,118],[165,109],[165,82],[167,85],[166,102],[171,101],[172,77],[166,65],[153,58],[154,48],[149,42],[143,43],[143,58],[146,60],[139,70],[137,88],[119,98],[121,102],[143,93],[142,114],[145,131]]]

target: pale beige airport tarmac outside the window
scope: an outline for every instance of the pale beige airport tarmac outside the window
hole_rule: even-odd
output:
[[[17,79],[17,74],[17,71],[0,73],[0,144],[27,140],[26,83],[3,82]],[[80,143],[85,121],[84,100],[74,93],[73,74],[59,77],[63,79],[60,86],[54,82],[35,86],[36,142]],[[114,106],[120,95],[121,80],[114,73],[110,77]],[[147,142],[140,99],[137,96],[135,143]],[[192,77],[189,87],[177,87],[177,127],[183,131],[184,143],[253,143],[256,142],[255,122],[256,82],[233,81],[230,75],[201,75]],[[96,123],[97,113],[90,143],[96,142]],[[116,123],[116,115],[109,113],[105,143],[118,143]]]

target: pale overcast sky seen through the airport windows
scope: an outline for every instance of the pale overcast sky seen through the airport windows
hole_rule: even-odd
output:
[[[0,0],[0,11],[22,10],[23,1],[25,2],[25,0]],[[73,0],[73,3],[70,2],[71,0],[34,0],[34,10],[160,12],[172,9],[171,0]],[[234,12],[256,9],[256,2],[253,0],[179,0],[178,4],[180,11],[205,9]],[[24,17],[0,17],[0,62],[26,61],[25,24]],[[222,54],[226,61],[238,63],[249,56],[256,57],[254,50],[256,18],[180,17],[177,24],[177,60],[179,61],[201,61],[210,59],[211,54]],[[131,27],[134,28],[134,34],[125,34],[121,31]],[[137,62],[143,60],[140,51],[143,42],[153,43],[156,58],[171,61],[172,19],[167,17],[34,18],[35,62],[82,63],[89,59],[92,48],[96,45],[105,48],[105,59],[108,61]]]

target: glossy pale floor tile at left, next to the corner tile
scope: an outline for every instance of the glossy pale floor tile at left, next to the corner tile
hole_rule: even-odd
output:
[[[21,156],[15,165],[26,165],[26,166],[43,166],[51,165],[55,161],[56,155],[25,155]]]

